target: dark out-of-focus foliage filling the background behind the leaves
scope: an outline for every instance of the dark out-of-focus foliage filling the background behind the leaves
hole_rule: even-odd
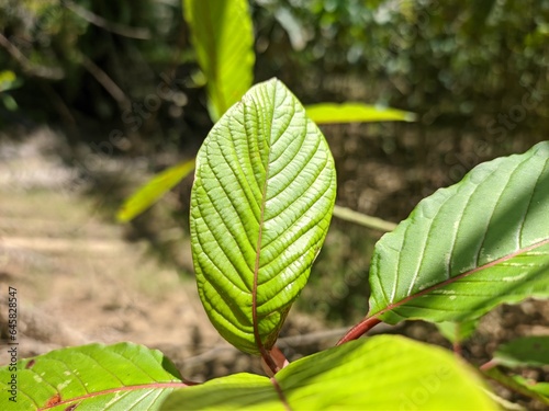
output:
[[[212,123],[182,9],[180,0],[0,0],[4,134],[46,124],[71,147],[146,156],[149,171],[194,156]],[[340,205],[399,221],[477,163],[548,135],[548,1],[250,0],[250,10],[256,82],[277,76],[306,104],[418,114],[416,124],[323,127]],[[168,201],[172,219],[152,210],[134,222],[176,264],[178,250],[166,252],[157,235],[184,220],[189,186]],[[116,206],[127,194],[110,198]],[[360,250],[380,233],[334,228],[302,300],[334,319],[360,316],[369,261]]]

